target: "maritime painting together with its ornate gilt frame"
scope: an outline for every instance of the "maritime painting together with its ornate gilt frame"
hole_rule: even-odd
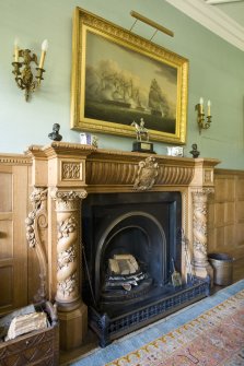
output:
[[[187,59],[80,8],[72,52],[72,129],[185,143]]]

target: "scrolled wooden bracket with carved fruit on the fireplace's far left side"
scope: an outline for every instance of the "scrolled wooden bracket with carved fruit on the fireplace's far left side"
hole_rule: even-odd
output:
[[[47,235],[47,189],[35,187],[30,199],[33,211],[25,220],[26,238],[30,247],[36,250],[39,262],[40,286],[34,300],[42,302],[47,299],[47,255],[44,243]]]

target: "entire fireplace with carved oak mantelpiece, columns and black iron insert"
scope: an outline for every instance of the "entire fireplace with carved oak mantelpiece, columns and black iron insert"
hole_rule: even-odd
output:
[[[57,304],[61,349],[81,345],[88,323],[105,346],[208,295],[207,198],[217,160],[66,142],[27,154],[27,238],[39,259],[38,297]]]

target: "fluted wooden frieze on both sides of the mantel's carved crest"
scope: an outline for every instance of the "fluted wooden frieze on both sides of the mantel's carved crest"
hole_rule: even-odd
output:
[[[193,166],[174,166],[159,164],[154,185],[187,186],[194,177]],[[136,162],[86,162],[88,185],[133,185],[138,176]]]

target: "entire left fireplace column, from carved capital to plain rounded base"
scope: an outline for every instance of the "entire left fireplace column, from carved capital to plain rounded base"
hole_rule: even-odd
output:
[[[82,344],[88,331],[88,308],[81,299],[80,286],[80,200],[86,191],[50,190],[56,201],[57,293],[60,347],[72,350]],[[72,337],[70,337],[72,334]]]

